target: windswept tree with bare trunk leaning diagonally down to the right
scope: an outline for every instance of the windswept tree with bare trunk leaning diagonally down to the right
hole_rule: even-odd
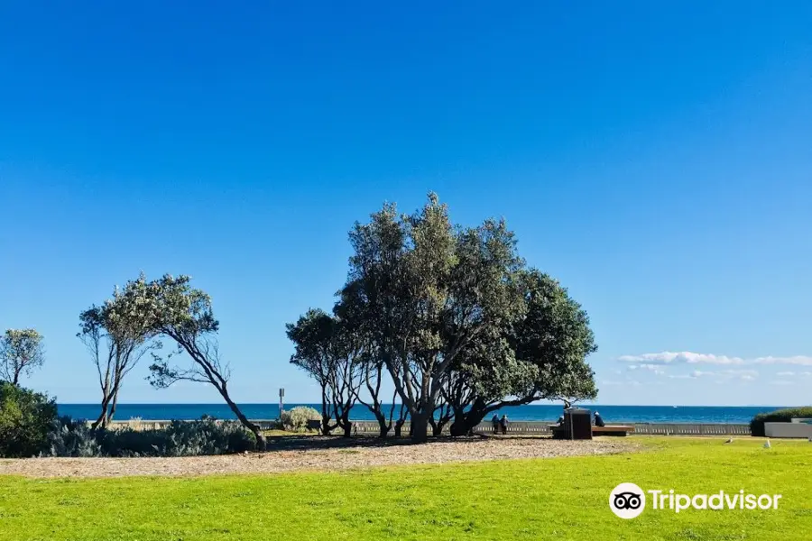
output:
[[[170,387],[176,381],[210,384],[226,400],[240,423],[254,433],[257,448],[263,450],[265,437],[262,430],[245,417],[228,394],[231,369],[219,354],[219,322],[214,316],[211,298],[201,289],[192,288],[189,282],[189,276],[175,278],[169,274],[160,280],[130,282],[134,302],[147,314],[146,326],[156,335],[171,338],[191,361],[191,366],[183,368],[170,365],[168,357],[156,357],[150,365],[149,381],[159,389]]]

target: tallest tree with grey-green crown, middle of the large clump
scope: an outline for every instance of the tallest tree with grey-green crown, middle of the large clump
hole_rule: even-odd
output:
[[[385,205],[371,218],[350,233],[344,292],[353,290],[352,326],[374,344],[422,442],[457,355],[521,307],[512,274],[522,261],[503,221],[455,227],[435,194],[414,215]]]

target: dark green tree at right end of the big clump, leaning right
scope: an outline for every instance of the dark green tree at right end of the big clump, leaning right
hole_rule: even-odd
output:
[[[456,370],[473,392],[452,398],[453,436],[467,434],[500,408],[597,395],[594,372],[586,363],[597,350],[586,312],[557,280],[540,271],[522,271],[521,288],[523,316],[501,337],[472,344],[459,358]]]

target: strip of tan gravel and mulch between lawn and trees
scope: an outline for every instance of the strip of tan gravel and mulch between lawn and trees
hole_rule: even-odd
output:
[[[549,438],[462,438],[407,445],[374,438],[307,436],[271,438],[269,451],[252,454],[171,458],[28,458],[0,461],[0,474],[28,477],[120,477],[337,471],[367,466],[549,458],[632,451],[637,445],[615,438],[558,441]]]

